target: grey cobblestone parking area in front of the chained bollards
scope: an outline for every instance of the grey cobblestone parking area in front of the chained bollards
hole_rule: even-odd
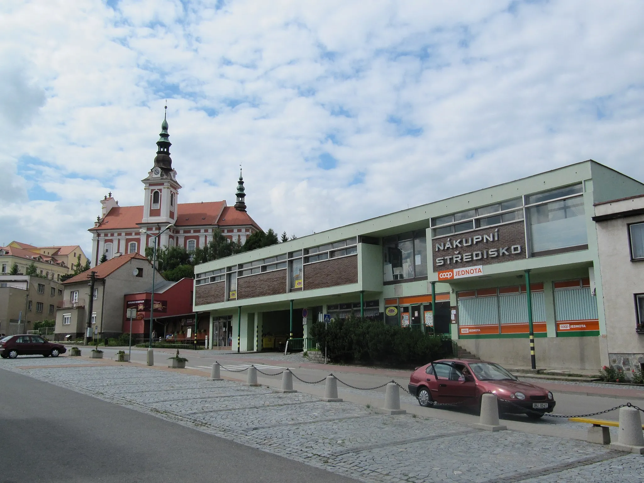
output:
[[[21,357],[3,360],[0,368],[365,482],[644,481],[643,457],[579,440],[492,433],[452,421],[382,415],[353,403],[323,403],[305,393],[90,364]]]

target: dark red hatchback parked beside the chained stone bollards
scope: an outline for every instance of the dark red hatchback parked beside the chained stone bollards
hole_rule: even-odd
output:
[[[485,361],[441,359],[417,368],[409,392],[426,408],[433,404],[461,403],[480,408],[481,395],[497,396],[502,413],[526,413],[538,419],[554,409],[553,393],[519,381],[500,365]]]

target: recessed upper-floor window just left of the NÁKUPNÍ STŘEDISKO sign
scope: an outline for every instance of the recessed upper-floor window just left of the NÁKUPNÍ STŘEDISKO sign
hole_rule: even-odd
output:
[[[383,240],[384,281],[427,276],[425,230],[388,236]]]

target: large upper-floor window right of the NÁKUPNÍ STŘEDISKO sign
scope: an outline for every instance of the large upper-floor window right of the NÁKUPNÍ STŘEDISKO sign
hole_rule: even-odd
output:
[[[528,204],[540,203],[528,208],[533,256],[588,248],[583,196],[578,193],[582,193],[582,184],[526,197]]]

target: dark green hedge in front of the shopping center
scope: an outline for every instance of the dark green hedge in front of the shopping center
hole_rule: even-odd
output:
[[[312,336],[333,362],[384,363],[392,366],[423,365],[451,357],[451,341],[423,334],[421,330],[385,325],[360,317],[332,321],[312,327]]]

